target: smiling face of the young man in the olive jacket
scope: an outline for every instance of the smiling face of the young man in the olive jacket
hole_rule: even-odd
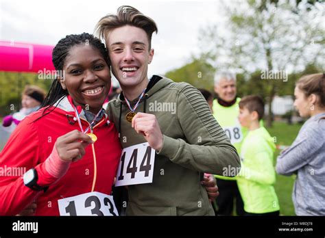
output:
[[[112,73],[122,88],[146,84],[148,64],[152,62],[154,49],[149,49],[145,31],[125,25],[112,29],[106,38],[112,63]]]

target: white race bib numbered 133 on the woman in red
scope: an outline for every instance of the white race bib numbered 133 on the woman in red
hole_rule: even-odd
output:
[[[58,200],[60,215],[119,215],[113,197],[92,191]]]

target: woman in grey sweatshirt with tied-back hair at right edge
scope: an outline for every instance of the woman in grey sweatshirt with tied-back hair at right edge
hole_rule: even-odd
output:
[[[293,105],[309,119],[278,157],[276,172],[297,174],[292,194],[297,215],[325,215],[325,74],[300,78],[294,94]]]

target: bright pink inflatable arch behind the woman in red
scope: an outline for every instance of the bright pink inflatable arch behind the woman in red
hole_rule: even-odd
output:
[[[0,41],[0,71],[38,72],[54,70],[53,46]]]

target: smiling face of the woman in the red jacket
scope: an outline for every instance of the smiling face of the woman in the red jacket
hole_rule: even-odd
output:
[[[75,105],[97,114],[110,89],[110,68],[98,49],[91,44],[77,44],[64,61],[64,81]]]

